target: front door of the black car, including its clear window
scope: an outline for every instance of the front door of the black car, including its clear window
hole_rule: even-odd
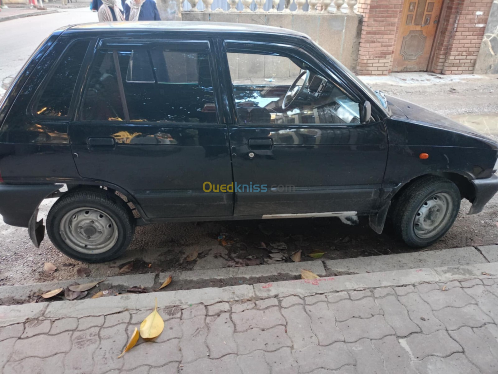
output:
[[[221,48],[236,118],[229,125],[234,215],[374,210],[387,159],[384,123],[360,123],[360,100],[300,48],[238,40]],[[287,90],[306,70],[312,92],[283,110]]]

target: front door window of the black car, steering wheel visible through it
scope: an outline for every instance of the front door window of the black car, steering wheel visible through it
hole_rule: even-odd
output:
[[[227,57],[241,123],[360,122],[358,103],[299,59],[255,53]]]

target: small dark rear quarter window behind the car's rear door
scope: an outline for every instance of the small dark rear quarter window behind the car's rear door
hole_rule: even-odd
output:
[[[80,40],[66,49],[39,96],[35,106],[35,111],[39,116],[65,117],[68,115],[74,86],[88,44],[88,40]]]

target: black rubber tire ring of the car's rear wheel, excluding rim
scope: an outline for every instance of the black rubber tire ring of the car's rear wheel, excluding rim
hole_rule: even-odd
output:
[[[73,209],[83,207],[106,213],[116,224],[113,228],[113,230],[117,228],[116,242],[103,253],[84,253],[75,250],[61,235],[60,224],[63,217]],[[103,189],[66,192],[54,203],[47,215],[47,233],[55,247],[66,256],[83,262],[105,262],[120,257],[131,242],[134,230],[133,214],[123,199]]]

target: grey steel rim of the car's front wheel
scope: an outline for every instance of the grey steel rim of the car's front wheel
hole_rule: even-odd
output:
[[[433,237],[441,232],[450,220],[453,200],[446,192],[435,193],[418,208],[413,219],[413,231],[421,239]]]

